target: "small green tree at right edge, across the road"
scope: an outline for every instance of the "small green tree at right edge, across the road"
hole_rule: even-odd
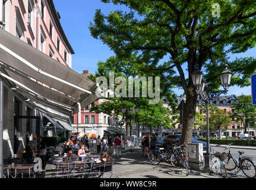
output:
[[[246,133],[248,125],[255,128],[256,122],[256,106],[252,105],[251,96],[239,96],[238,102],[233,102],[231,116],[244,125],[244,133]]]

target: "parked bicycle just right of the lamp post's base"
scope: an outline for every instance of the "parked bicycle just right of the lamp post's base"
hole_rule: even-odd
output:
[[[216,145],[216,146],[219,146],[219,145]],[[211,166],[210,166],[210,169],[211,169],[211,173],[218,173],[218,172],[222,172],[222,175],[224,178],[227,177],[227,170],[226,170],[226,167],[225,167],[225,159],[226,159],[226,153],[222,153],[220,154],[219,152],[216,152],[214,150],[213,147],[210,147],[210,152],[213,152],[213,154],[211,154]]]

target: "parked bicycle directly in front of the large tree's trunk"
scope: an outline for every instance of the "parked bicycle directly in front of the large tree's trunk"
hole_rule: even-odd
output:
[[[173,152],[172,152],[172,156],[170,157],[170,163],[173,166],[181,166],[183,167],[182,171],[185,169],[187,175],[189,175],[189,166],[188,166],[188,157],[185,156],[185,151],[182,151],[182,147],[184,145],[180,145],[179,147],[174,145],[173,146]],[[181,172],[182,172],[181,171]]]

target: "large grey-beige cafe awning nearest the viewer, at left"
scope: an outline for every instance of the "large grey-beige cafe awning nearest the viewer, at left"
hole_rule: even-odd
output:
[[[27,99],[62,113],[97,100],[96,83],[2,29],[0,76]]]

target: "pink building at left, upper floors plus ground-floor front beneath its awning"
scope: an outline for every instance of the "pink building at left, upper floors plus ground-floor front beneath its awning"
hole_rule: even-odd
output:
[[[0,30],[71,68],[74,50],[65,36],[60,19],[52,0],[0,0],[0,21],[5,23],[0,25]],[[39,112],[4,84],[4,159],[20,153],[21,148],[36,134],[35,121],[23,119],[15,124],[15,115],[38,116]]]

